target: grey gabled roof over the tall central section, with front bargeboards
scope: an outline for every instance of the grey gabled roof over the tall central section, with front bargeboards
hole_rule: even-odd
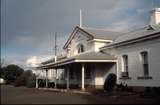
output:
[[[85,32],[90,39],[115,40],[120,34],[119,32],[112,32],[112,31],[108,31],[104,29],[86,28],[86,27],[76,26],[63,48],[66,48],[68,46],[68,44],[71,42],[73,37],[76,35],[75,33],[78,30]]]

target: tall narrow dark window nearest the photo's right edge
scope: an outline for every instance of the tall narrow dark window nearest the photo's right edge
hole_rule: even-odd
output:
[[[144,76],[149,76],[148,52],[147,51],[141,52],[141,57],[142,57],[142,65],[143,65]]]

